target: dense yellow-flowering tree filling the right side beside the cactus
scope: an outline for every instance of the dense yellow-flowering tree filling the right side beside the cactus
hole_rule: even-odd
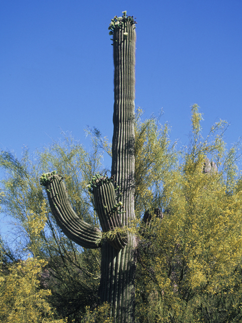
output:
[[[227,152],[222,140],[225,123],[204,140],[201,120],[194,105],[184,158],[160,178],[163,219],[153,217],[143,231],[136,298],[136,317],[143,322],[242,318],[241,180],[234,148]],[[218,172],[203,172],[207,155],[220,165]]]

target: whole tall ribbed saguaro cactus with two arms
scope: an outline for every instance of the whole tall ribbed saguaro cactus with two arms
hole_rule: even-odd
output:
[[[88,184],[102,232],[117,232],[115,238],[102,239],[99,229],[78,218],[68,200],[63,177],[52,172],[40,178],[53,216],[64,233],[83,247],[101,248],[100,299],[110,303],[115,322],[125,323],[134,320],[135,296],[136,237],[129,230],[125,232],[135,218],[135,24],[133,17],[123,12],[122,17],[115,16],[109,25],[114,61],[111,178],[96,174]]]

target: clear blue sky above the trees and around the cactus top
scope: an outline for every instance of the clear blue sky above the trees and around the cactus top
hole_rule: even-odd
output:
[[[136,100],[145,117],[163,108],[171,139],[188,142],[190,106],[204,135],[219,119],[242,135],[241,0],[8,0],[0,4],[0,150],[32,152],[83,129],[112,138],[113,62],[108,25],[136,17]]]

